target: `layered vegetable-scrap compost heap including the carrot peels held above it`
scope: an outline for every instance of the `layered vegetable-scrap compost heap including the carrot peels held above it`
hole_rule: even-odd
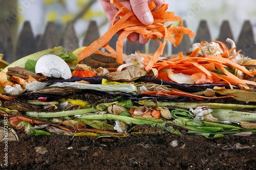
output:
[[[178,135],[182,128],[207,138],[256,132],[255,60],[236,52],[231,39],[231,49],[220,41],[201,42],[186,54],[163,57],[167,39],[178,45],[183,34],[195,35],[180,17],[163,5],[152,12],[153,25],[142,26],[132,11],[111,2],[121,19],[90,46],[73,53],[54,47],[4,67],[2,124],[28,135],[127,137],[143,133],[133,131],[137,125]],[[153,11],[154,3],[149,7]],[[180,25],[166,27],[169,21]],[[115,51],[108,41],[119,30]],[[164,41],[155,54],[125,55],[123,40],[132,32]]]

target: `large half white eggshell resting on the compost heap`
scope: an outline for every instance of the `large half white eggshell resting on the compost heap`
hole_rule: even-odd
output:
[[[70,79],[72,77],[69,65],[60,57],[47,54],[40,57],[35,65],[35,73],[47,77]]]

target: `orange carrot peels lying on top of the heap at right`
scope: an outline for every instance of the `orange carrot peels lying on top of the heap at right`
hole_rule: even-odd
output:
[[[256,82],[240,79],[226,69],[227,66],[230,66],[249,76],[256,74],[256,70],[250,72],[244,66],[232,61],[241,51],[231,56],[230,53],[235,48],[228,50],[224,43],[220,41],[215,42],[220,44],[223,54],[199,56],[200,48],[196,48],[189,56],[183,56],[182,53],[179,53],[177,58],[159,60],[153,65],[153,68],[157,68],[159,72],[163,69],[168,69],[167,75],[170,74],[170,71],[172,71],[172,74],[189,75],[195,81],[195,84],[228,83],[231,89],[232,85],[240,85],[244,89],[249,89],[248,84],[256,86]],[[223,74],[217,73],[217,68]]]

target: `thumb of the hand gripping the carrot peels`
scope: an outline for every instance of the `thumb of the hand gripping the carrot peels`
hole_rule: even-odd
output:
[[[130,0],[134,14],[144,25],[151,25],[154,21],[147,5],[147,0]]]

